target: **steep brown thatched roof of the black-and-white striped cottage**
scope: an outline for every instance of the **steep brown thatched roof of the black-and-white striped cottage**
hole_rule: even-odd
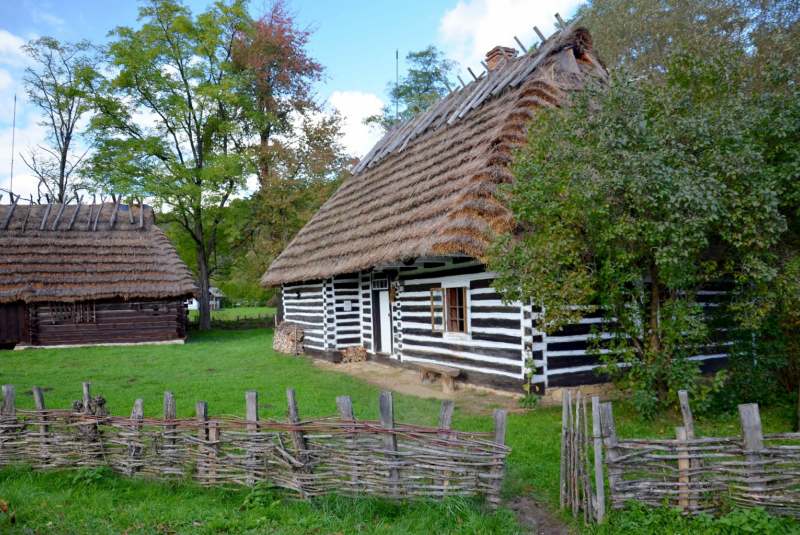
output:
[[[264,286],[430,255],[480,258],[487,230],[513,228],[495,196],[535,109],[608,73],[583,28],[557,33],[396,126],[298,233]]]

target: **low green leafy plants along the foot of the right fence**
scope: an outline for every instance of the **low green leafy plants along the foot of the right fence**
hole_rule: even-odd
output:
[[[683,516],[680,509],[649,509],[638,502],[629,502],[625,511],[614,511],[601,526],[589,531],[593,535],[793,535],[800,533],[800,524],[792,518],[771,516],[763,507],[735,509],[714,518]]]

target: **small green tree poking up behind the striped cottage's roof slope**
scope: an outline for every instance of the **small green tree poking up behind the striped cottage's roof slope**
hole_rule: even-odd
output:
[[[392,120],[408,119],[427,110],[440,95],[449,92],[449,78],[458,68],[458,63],[447,59],[435,46],[409,52],[406,61],[410,64],[408,73],[398,83],[390,81],[386,84],[391,105],[384,106],[381,113],[367,117],[364,124],[387,127]]]

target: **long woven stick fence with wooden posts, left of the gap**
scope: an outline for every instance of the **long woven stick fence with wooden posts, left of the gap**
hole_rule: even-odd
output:
[[[84,390],[82,407],[94,407],[88,383]],[[265,481],[306,499],[333,493],[390,499],[483,495],[497,506],[510,452],[504,410],[495,411],[494,434],[450,430],[452,401],[442,405],[439,428],[395,424],[391,392],[381,392],[381,421],[355,420],[349,396],[336,400],[340,418],[301,421],[290,388],[286,422],[259,420],[255,391],[247,392],[247,418],[209,418],[206,403],[198,402],[193,419],[174,417],[170,392],[164,419],[144,418],[141,400],[125,418],[45,410],[38,388],[38,410],[17,410],[13,387],[4,386],[3,394],[0,467],[109,466],[128,476],[192,478],[222,488]]]

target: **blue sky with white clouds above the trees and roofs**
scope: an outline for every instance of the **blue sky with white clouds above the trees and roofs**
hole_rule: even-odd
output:
[[[202,12],[210,0],[184,0],[193,12]],[[251,13],[263,13],[269,0],[252,0]],[[380,133],[362,124],[380,111],[386,84],[395,79],[395,51],[400,75],[405,55],[435,45],[460,64],[466,82],[467,67],[478,74],[480,61],[496,45],[519,48],[538,41],[538,26],[546,35],[555,28],[554,14],[571,17],[579,0],[293,0],[291,9],[303,26],[314,28],[308,49],[326,67],[325,80],[316,85],[320,99],[345,119],[344,145],[363,156]],[[38,125],[39,111],[26,101],[22,75],[28,65],[19,47],[41,36],[59,41],[108,41],[117,26],[136,28],[136,0],[0,0],[0,189],[10,186],[12,134],[15,137],[14,192],[36,192],[36,180],[20,153],[44,143],[46,130]],[[14,95],[16,128],[12,128]],[[3,192],[0,192],[3,193]],[[8,202],[6,196],[0,202]]]

